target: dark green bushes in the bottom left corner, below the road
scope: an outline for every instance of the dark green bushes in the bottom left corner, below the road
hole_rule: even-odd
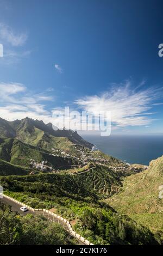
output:
[[[74,245],[76,241],[58,223],[43,216],[24,217],[0,202],[0,245]]]

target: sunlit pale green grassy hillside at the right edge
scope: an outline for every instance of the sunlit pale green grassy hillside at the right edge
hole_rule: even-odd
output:
[[[153,160],[147,170],[125,178],[122,191],[106,202],[163,236],[163,199],[159,198],[161,185],[163,156]]]

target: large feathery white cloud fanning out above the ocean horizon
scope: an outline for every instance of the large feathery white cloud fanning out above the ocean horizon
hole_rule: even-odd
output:
[[[150,117],[153,112],[152,102],[158,99],[160,89],[133,89],[131,82],[114,84],[108,92],[100,96],[85,96],[75,103],[79,108],[98,115],[99,111],[110,111],[112,124],[118,127],[148,125],[154,120]]]

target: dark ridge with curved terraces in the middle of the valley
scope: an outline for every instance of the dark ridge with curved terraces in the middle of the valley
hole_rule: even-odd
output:
[[[108,197],[122,185],[121,177],[118,174],[112,172],[108,167],[95,166],[94,164],[87,164],[80,169],[70,169],[68,172],[60,171],[53,174],[23,177],[8,176],[6,179],[2,178],[1,182],[4,188],[10,191],[25,192],[30,187],[30,192],[41,194],[46,191],[46,186],[43,186],[43,183],[45,185],[48,183],[52,184],[49,189],[51,188],[53,197],[71,197],[73,195],[73,198],[90,197],[91,200],[97,199],[97,197]],[[39,188],[37,187],[38,184]],[[35,207],[40,206],[35,205]]]

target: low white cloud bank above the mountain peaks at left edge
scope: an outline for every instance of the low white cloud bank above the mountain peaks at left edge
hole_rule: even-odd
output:
[[[0,83],[0,117],[10,121],[30,117],[52,122],[51,112],[42,103],[52,100],[46,93],[29,93],[20,83]]]

